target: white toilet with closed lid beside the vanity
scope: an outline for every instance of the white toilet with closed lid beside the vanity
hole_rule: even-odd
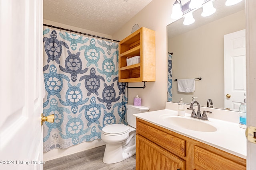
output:
[[[121,162],[136,153],[136,117],[133,114],[147,112],[149,107],[126,104],[126,108],[128,125],[118,123],[102,128],[101,139],[106,143],[105,164]]]

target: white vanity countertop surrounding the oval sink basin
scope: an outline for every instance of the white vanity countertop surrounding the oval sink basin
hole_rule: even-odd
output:
[[[214,114],[214,111],[212,114]],[[208,121],[199,121],[203,121],[204,123],[213,125],[214,127],[216,127],[217,131],[202,132],[174,126],[171,123],[168,123],[168,121],[163,120],[162,117],[166,116],[180,117],[177,115],[176,110],[163,109],[158,111],[149,111],[146,113],[138,113],[134,114],[134,116],[158,125],[160,127],[163,127],[165,129],[168,129],[170,131],[179,133],[180,135],[184,135],[186,137],[195,139],[212,147],[216,147],[218,149],[224,150],[228,153],[246,159],[245,129],[240,128],[238,126],[238,123],[215,119],[208,116]],[[190,118],[190,113],[186,113],[185,117],[188,119],[194,119]]]

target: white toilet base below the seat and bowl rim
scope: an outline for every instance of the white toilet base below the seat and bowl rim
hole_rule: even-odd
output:
[[[130,158],[136,153],[135,134],[130,135],[126,142],[119,144],[106,144],[103,162],[105,164],[114,164]]]

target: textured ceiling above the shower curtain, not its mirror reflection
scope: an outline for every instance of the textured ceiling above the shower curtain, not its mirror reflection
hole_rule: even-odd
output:
[[[44,0],[44,19],[112,35],[151,1]]]

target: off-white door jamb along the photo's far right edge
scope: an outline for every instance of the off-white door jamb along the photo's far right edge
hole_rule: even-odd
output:
[[[256,1],[246,0],[247,126],[256,127]],[[256,170],[256,144],[247,141],[246,169]]]

